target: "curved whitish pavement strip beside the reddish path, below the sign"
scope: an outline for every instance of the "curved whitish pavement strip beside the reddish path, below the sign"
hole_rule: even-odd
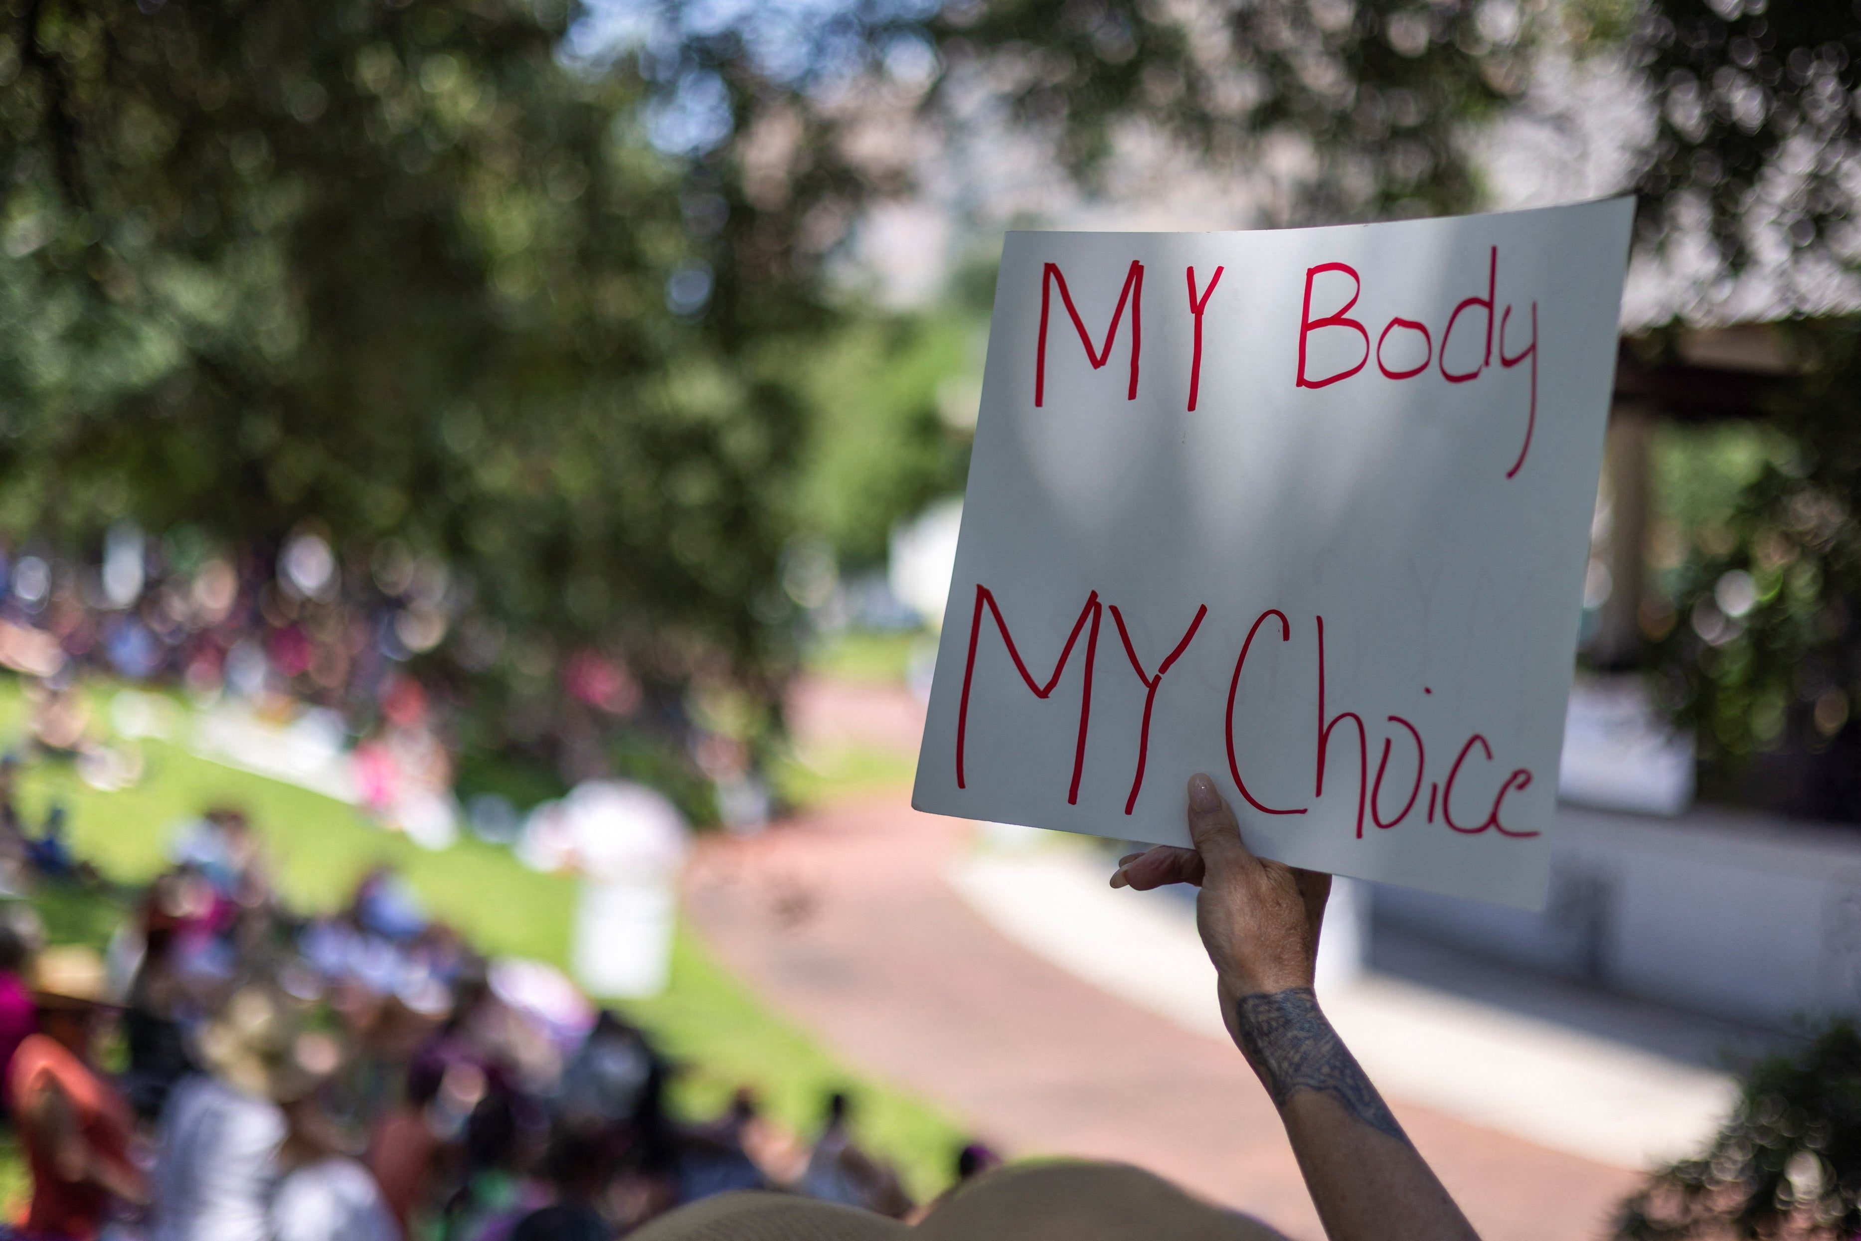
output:
[[[1191,1034],[1226,1042],[1208,997],[1215,967],[1195,930],[1193,889],[1148,893],[1105,886],[1109,861],[1078,837],[1025,830],[1012,850],[975,850],[945,874],[986,923],[1100,990],[1148,1008]],[[999,839],[1005,830],[988,834]],[[1338,915],[1344,915],[1342,919]],[[1357,917],[1351,917],[1355,914]],[[1600,1163],[1640,1168],[1697,1154],[1731,1113],[1736,1083],[1712,1068],[1582,1029],[1584,1003],[1658,1031],[1695,1034],[1701,1018],[1654,1012],[1619,995],[1584,995],[1552,979],[1511,971],[1513,992],[1548,1001],[1535,1016],[1517,1003],[1465,994],[1470,962],[1442,988],[1349,967],[1362,960],[1353,925],[1368,923],[1368,893],[1344,880],[1331,893],[1319,956],[1325,1014],[1390,1098]],[[1366,927],[1368,930],[1368,927]],[[1399,932],[1370,932],[1372,958]],[[1377,953],[1377,949],[1385,949]],[[1491,967],[1489,967],[1491,971]],[[1640,1012],[1636,1012],[1640,1008]],[[1627,1010],[1627,1012],[1625,1012]]]

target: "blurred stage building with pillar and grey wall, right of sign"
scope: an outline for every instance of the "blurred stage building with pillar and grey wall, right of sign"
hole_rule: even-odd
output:
[[[1768,324],[1684,329],[1660,361],[1625,337],[1604,450],[1552,884],[1543,912],[1379,887],[1373,921],[1697,1012],[1783,1027],[1861,1010],[1861,834],[1800,817],[1824,755],[1753,757],[1747,809],[1695,806],[1690,739],[1643,683],[1660,616],[1651,590],[1651,439],[1660,420],[1757,420],[1796,368]]]

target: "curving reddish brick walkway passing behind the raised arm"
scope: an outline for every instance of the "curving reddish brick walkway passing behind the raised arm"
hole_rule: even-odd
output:
[[[1011,1154],[1137,1163],[1319,1241],[1279,1118],[1239,1053],[983,923],[944,880],[964,834],[899,793],[757,839],[713,837],[690,871],[689,910],[774,1008]],[[1638,1181],[1392,1107],[1487,1241],[1600,1237]]]

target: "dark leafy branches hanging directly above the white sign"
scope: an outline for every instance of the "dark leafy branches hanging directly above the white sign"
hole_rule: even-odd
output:
[[[1522,89],[1533,9],[1509,0],[1264,0],[1185,17],[1141,0],[996,0],[932,24],[949,69],[1007,80],[1014,115],[1091,171],[1148,125],[1243,169],[1292,140],[1279,223],[1472,207],[1459,136]]]

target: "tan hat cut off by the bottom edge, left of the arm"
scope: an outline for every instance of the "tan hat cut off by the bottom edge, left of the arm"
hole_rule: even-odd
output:
[[[975,1178],[921,1224],[770,1193],[705,1198],[629,1241],[1284,1241],[1117,1163],[1024,1163]]]

